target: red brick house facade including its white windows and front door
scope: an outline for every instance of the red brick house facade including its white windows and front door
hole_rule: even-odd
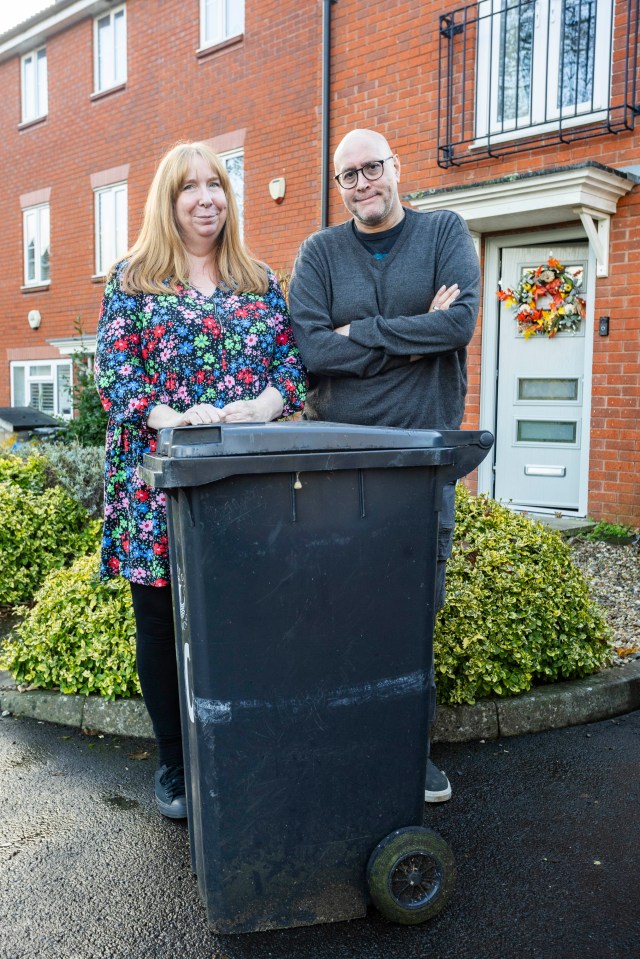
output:
[[[405,202],[457,210],[477,240],[465,425],[496,433],[479,487],[638,525],[637,3],[539,9],[56,0],[0,36],[0,406],[71,412],[78,325],[90,347],[109,254],[135,237],[171,144],[228,158],[249,246],[286,272],[308,233],[344,219],[338,141],[375,127]],[[550,253],[582,267],[587,314],[575,336],[525,343],[496,290]]]

